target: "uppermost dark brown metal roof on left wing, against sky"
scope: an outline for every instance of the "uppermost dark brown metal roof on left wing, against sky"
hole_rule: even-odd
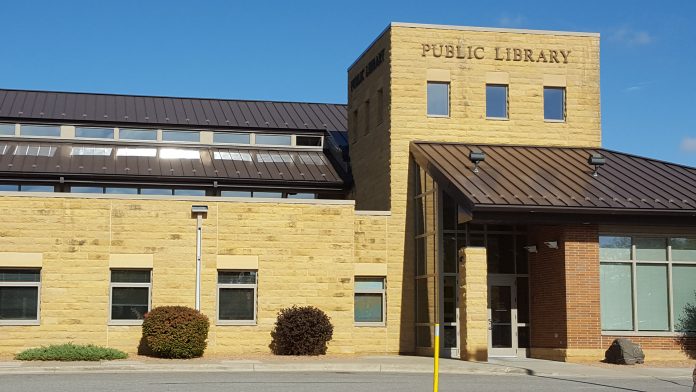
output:
[[[0,89],[0,118],[12,121],[157,127],[347,131],[346,106]]]

